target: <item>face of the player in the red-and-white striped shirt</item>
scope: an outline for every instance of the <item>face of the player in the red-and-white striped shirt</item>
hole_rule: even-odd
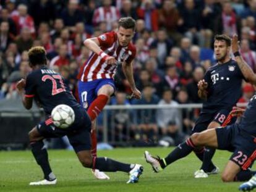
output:
[[[122,47],[126,47],[130,41],[132,40],[134,36],[134,30],[132,28],[124,28],[119,27],[117,31],[117,38],[119,44],[121,44]]]

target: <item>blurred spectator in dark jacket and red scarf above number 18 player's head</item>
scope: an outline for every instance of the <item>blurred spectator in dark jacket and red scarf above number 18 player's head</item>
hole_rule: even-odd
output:
[[[231,2],[223,2],[222,12],[216,17],[215,21],[215,33],[224,33],[228,36],[238,33],[238,36],[240,36],[241,20],[234,12]]]

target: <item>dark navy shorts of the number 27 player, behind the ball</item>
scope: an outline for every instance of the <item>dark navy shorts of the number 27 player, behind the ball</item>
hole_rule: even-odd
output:
[[[68,128],[55,127],[51,120],[46,119],[40,122],[36,129],[44,138],[61,138],[66,135],[75,152],[88,151],[91,149],[91,120],[85,109],[80,106],[74,109],[74,112],[75,121]]]

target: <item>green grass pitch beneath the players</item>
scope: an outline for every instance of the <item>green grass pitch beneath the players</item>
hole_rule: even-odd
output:
[[[126,173],[108,173],[110,180],[96,180],[90,169],[80,165],[73,151],[49,151],[50,164],[58,177],[54,186],[28,186],[29,182],[42,178],[40,167],[36,164],[30,151],[0,152],[0,191],[189,191],[214,192],[238,191],[241,183],[223,183],[221,174],[208,178],[194,178],[194,172],[200,166],[194,154],[174,162],[161,173],[153,173],[143,157],[146,148],[117,148],[112,151],[98,151],[98,156],[107,156],[118,161],[138,163],[144,167],[139,183],[126,184]],[[151,154],[161,157],[172,148],[147,148]],[[217,151],[213,161],[221,171],[228,162],[230,152]]]

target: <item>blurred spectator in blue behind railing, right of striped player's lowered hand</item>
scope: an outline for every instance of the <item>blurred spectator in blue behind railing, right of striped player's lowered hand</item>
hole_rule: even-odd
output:
[[[153,94],[153,85],[148,84],[142,90],[142,99],[136,100],[134,104],[158,104],[158,96]],[[156,110],[141,109],[137,110],[137,124],[143,140],[156,140],[158,135],[158,127],[156,125]]]

